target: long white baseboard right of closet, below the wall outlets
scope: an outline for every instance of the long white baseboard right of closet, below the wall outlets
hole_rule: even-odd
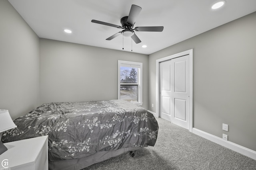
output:
[[[256,151],[254,150],[242,147],[230,141],[225,141],[220,137],[216,137],[214,135],[211,135],[210,133],[206,133],[196,128],[192,129],[192,133],[256,160]]]

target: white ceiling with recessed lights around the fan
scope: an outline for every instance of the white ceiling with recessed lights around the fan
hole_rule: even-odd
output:
[[[108,49],[122,50],[121,31],[92,23],[99,20],[121,25],[132,4],[140,6],[134,27],[164,26],[162,32],[135,32],[142,41],[124,37],[124,50],[151,54],[180,41],[218,27],[256,11],[256,0],[226,0],[225,6],[212,10],[218,0],[9,0],[40,38],[54,39]],[[63,29],[71,29],[71,34]],[[142,48],[147,45],[147,48]]]

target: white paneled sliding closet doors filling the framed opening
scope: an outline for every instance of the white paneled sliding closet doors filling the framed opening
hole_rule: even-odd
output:
[[[189,55],[160,63],[160,117],[189,129]]]

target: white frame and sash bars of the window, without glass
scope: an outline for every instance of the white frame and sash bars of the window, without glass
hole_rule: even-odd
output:
[[[133,61],[122,61],[118,60],[118,99],[120,100],[120,85],[132,85],[132,83],[120,83],[120,67],[126,66],[126,67],[136,67],[138,68],[137,74],[138,74],[138,102],[133,103],[137,104],[139,106],[142,106],[142,63],[133,62]]]

